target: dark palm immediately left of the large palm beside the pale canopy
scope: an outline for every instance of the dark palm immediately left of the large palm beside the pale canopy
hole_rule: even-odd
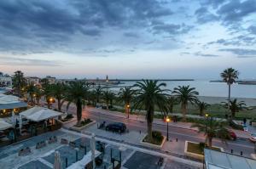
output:
[[[63,83],[51,84],[51,95],[57,100],[58,110],[61,111],[62,99],[65,98],[65,92],[67,87]]]

